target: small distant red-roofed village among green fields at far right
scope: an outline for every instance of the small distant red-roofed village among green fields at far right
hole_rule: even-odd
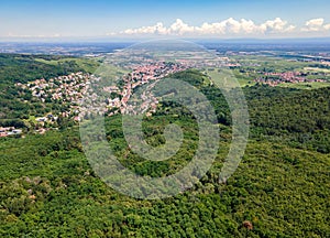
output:
[[[256,78],[254,82],[266,84],[274,87],[283,83],[298,84],[298,83],[315,83],[315,82],[326,82],[326,80],[307,79],[306,75],[304,75],[300,72],[284,72],[284,73],[264,73],[263,77]]]

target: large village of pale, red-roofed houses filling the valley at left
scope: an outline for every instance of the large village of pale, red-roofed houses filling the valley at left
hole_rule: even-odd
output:
[[[133,94],[133,90],[139,86],[156,82],[163,77],[177,72],[186,71],[188,66],[178,63],[156,62],[144,63],[136,65],[136,67],[129,74],[122,76],[123,86],[117,85],[105,86],[102,91],[108,97],[101,102],[92,90],[92,84],[98,84],[99,77],[81,72],[69,74],[67,76],[59,76],[48,80],[41,78],[28,84],[16,84],[18,87],[29,90],[33,97],[38,98],[43,104],[59,104],[64,110],[59,113],[47,113],[43,117],[35,117],[35,132],[45,133],[47,130],[57,129],[56,121],[59,117],[67,118],[79,122],[84,119],[89,119],[90,115],[95,112],[84,101],[89,98],[91,101],[97,102],[98,113],[107,113],[113,116],[116,113],[128,113],[134,110],[142,109],[143,111],[150,110],[147,113],[155,111],[157,106],[156,98],[146,93],[143,95],[143,100],[152,101],[151,104],[141,105],[140,109],[133,108],[128,102]],[[116,97],[111,97],[116,95]],[[147,99],[147,100],[146,100]],[[92,111],[92,112],[91,112]],[[136,113],[136,111],[134,112]],[[47,127],[45,127],[47,125]],[[0,136],[8,137],[12,134],[21,134],[22,130],[15,128],[0,128]]]

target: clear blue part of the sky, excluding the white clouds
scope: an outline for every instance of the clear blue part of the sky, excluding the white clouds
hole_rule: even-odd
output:
[[[308,31],[301,33],[299,29],[312,19],[322,19],[323,25],[329,24],[329,0],[123,0],[120,2],[109,0],[2,0],[0,2],[0,37],[102,36],[109,33],[112,33],[112,36],[117,34],[123,36],[122,32],[128,29],[152,26],[157,22],[161,22],[164,28],[170,28],[177,19],[180,19],[189,26],[199,28],[205,22],[211,24],[230,18],[239,22],[241,19],[252,20],[257,26],[268,20],[279,18],[287,22],[287,26],[295,26],[292,35],[328,36],[329,31],[324,30],[328,28],[320,25],[318,25],[319,31],[310,26],[312,31],[309,33],[307,33]],[[224,22],[223,24],[232,25],[235,22]],[[316,21],[312,24],[319,23]],[[264,31],[273,32],[272,29]],[[140,34],[140,32],[136,31],[134,34]],[[177,33],[170,30],[168,32],[170,32],[168,34]],[[193,35],[201,30],[191,32]],[[290,35],[287,32],[284,34],[278,31],[277,36]],[[275,31],[273,33],[275,35]],[[219,33],[215,33],[215,35]],[[251,36],[257,36],[257,34],[261,33],[251,33]],[[262,34],[265,35],[264,32]],[[232,31],[228,30],[220,36],[227,35],[233,35]],[[235,35],[249,34],[235,33]]]

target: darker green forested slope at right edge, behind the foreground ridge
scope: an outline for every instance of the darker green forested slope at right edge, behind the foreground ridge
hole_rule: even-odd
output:
[[[330,87],[297,90],[245,88],[252,134],[330,153]]]

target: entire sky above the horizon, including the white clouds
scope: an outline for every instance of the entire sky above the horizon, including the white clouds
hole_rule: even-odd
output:
[[[323,37],[329,0],[1,0],[0,39]]]

